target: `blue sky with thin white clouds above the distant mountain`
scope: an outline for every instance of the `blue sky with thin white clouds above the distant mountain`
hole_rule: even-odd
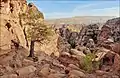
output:
[[[43,12],[45,19],[75,16],[120,16],[119,0],[27,0]]]

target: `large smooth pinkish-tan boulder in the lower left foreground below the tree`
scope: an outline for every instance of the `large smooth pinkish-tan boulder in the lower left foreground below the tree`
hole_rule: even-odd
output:
[[[36,68],[34,66],[27,66],[27,67],[23,67],[23,68],[16,70],[16,73],[19,76],[22,76],[22,75],[28,75],[30,73],[33,73],[33,72],[35,72],[35,70],[36,70]]]

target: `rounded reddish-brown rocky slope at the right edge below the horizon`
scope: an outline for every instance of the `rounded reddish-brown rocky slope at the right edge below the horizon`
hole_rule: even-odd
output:
[[[120,17],[110,19],[103,25],[98,44],[120,54]]]

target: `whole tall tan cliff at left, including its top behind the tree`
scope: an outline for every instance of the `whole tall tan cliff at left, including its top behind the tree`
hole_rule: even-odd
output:
[[[34,4],[28,4],[26,0],[2,0],[0,1],[0,55],[17,46],[27,48],[26,38],[27,19],[23,19],[21,14],[28,10],[38,10]],[[43,21],[43,14],[40,12]]]

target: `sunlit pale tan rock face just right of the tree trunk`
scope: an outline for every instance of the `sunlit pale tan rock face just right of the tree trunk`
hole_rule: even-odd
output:
[[[36,43],[35,51],[38,52],[38,54],[39,51],[43,51],[48,55],[51,55],[53,53],[55,56],[59,56],[59,52],[57,48],[58,37],[59,37],[58,34],[53,33],[53,35],[49,38],[50,39],[49,42],[45,42],[43,44]]]

